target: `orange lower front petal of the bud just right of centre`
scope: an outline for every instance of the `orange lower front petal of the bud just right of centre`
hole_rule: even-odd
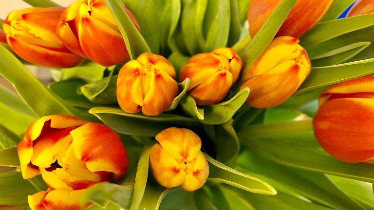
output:
[[[201,85],[193,88],[190,95],[197,105],[212,105],[221,102],[227,95],[232,84],[229,71],[218,71]]]

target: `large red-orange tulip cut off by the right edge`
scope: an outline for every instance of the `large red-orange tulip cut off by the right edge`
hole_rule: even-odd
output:
[[[319,96],[313,119],[322,148],[345,162],[374,159],[374,76],[339,83]]]

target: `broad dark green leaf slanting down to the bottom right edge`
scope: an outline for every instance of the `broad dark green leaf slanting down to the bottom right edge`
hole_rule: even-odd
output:
[[[266,158],[243,151],[238,158],[246,170],[279,181],[300,195],[339,210],[363,210],[344,191],[341,191],[324,174],[284,167]]]

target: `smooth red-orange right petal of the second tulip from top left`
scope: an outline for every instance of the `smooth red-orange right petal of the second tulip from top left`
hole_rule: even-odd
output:
[[[122,35],[96,18],[80,19],[78,37],[87,57],[102,66],[121,64],[129,59]]]

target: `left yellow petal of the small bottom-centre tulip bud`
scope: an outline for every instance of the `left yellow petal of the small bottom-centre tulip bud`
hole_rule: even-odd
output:
[[[186,181],[186,173],[160,144],[150,149],[150,168],[154,179],[166,188],[177,187]]]

